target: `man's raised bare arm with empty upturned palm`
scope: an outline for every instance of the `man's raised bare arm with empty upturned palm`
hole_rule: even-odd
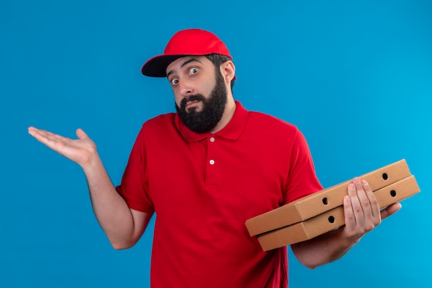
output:
[[[86,175],[92,207],[112,247],[132,247],[147,227],[152,213],[129,209],[123,198],[112,185],[101,162],[95,143],[82,131],[77,130],[79,139],[71,140],[34,127],[28,133],[52,150],[81,166]]]

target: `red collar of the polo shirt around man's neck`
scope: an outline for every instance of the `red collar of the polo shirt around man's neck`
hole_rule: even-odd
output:
[[[235,101],[235,112],[233,118],[230,122],[222,128],[222,130],[217,131],[215,134],[212,133],[195,133],[190,131],[190,129],[184,126],[181,119],[176,114],[175,115],[175,124],[179,129],[181,135],[188,142],[197,142],[206,139],[206,137],[211,137],[212,135],[217,135],[219,137],[224,137],[228,140],[237,140],[240,135],[242,135],[244,128],[246,127],[246,122],[248,121],[248,111],[246,108],[240,104],[240,102]]]

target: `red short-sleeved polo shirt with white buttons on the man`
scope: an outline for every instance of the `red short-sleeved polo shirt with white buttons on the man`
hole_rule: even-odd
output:
[[[239,103],[221,131],[175,113],[139,132],[117,191],[156,212],[151,287],[287,287],[286,247],[263,252],[245,221],[322,189],[297,128]]]

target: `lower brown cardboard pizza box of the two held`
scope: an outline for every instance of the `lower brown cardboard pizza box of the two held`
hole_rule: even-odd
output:
[[[399,202],[420,192],[414,176],[390,184],[374,192],[380,209]],[[320,236],[345,224],[344,207],[340,206],[306,221],[291,224],[288,227],[270,231],[258,236],[264,251],[302,242]]]

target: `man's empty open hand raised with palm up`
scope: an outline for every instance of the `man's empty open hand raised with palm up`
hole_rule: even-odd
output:
[[[77,140],[72,140],[49,131],[39,130],[35,127],[29,127],[28,133],[39,142],[76,162],[81,167],[90,163],[92,156],[96,153],[95,142],[81,128],[77,129],[76,133],[79,138]]]

